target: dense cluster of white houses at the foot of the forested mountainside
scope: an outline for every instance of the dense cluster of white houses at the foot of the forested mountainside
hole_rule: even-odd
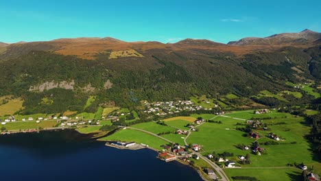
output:
[[[196,106],[192,101],[156,101],[153,103],[143,101],[143,106],[145,106],[144,112],[146,112],[147,114],[155,114],[158,116],[174,114],[183,110],[212,110],[212,108],[208,109],[202,108],[202,106]],[[215,105],[215,107],[217,107],[217,105]]]

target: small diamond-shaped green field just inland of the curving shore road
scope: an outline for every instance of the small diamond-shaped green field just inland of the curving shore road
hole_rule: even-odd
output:
[[[132,125],[132,128],[139,128],[141,130],[146,130],[148,132],[152,132],[154,134],[158,134],[161,132],[174,132],[176,129],[171,128],[166,125],[160,125],[158,123],[154,123],[153,121],[147,123],[139,123],[136,125]]]

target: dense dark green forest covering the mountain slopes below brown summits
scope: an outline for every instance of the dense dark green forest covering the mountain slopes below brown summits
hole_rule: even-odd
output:
[[[286,56],[291,56],[292,62],[285,59],[285,51]],[[320,56],[320,52],[314,49],[306,53],[310,53],[313,60]],[[238,58],[229,53],[206,50],[174,53],[153,50],[146,52],[146,57],[139,60],[122,58],[103,61],[99,58],[82,60],[75,56],[30,51],[24,56],[0,61],[0,96],[23,97],[25,110],[21,113],[25,114],[80,111],[84,109],[89,95],[96,95],[97,99],[86,107],[86,112],[95,112],[106,101],[134,108],[140,104],[140,100],[168,101],[189,99],[193,95],[208,95],[217,99],[228,93],[240,97],[226,100],[237,107],[246,101],[242,97],[257,95],[260,90],[291,90],[285,86],[285,81],[298,82],[292,67],[306,61],[306,53],[289,48]],[[301,76],[309,77],[308,73],[303,71]],[[29,92],[30,86],[44,82],[71,80],[75,82],[73,90],[55,88]],[[104,88],[107,80],[112,82],[109,89]],[[93,91],[84,90],[89,84],[94,88]],[[296,99],[289,95],[286,97],[289,102],[273,97],[254,97],[253,100],[268,106],[283,106],[312,99],[304,96],[304,99]],[[43,104],[44,98],[51,99],[52,104]]]

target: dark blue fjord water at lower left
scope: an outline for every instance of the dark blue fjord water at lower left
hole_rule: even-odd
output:
[[[0,136],[1,180],[201,180],[150,149],[106,147],[73,130]]]

